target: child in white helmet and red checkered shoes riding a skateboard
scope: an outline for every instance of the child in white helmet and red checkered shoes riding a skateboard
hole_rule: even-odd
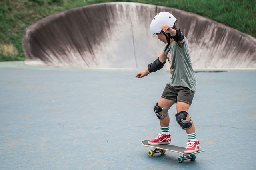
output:
[[[176,29],[177,20],[169,12],[160,12],[150,24],[152,35],[156,34],[160,41],[167,44],[162,54],[148,65],[148,69],[139,72],[135,78],[142,78],[151,72],[163,68],[166,59],[170,63],[170,73],[172,74],[169,83],[158,103],[154,106],[154,111],[160,119],[161,133],[158,137],[148,141],[150,145],[160,145],[171,143],[169,133],[170,117],[168,110],[174,103],[177,103],[176,120],[182,129],[186,130],[188,142],[185,154],[199,150],[199,141],[196,140],[196,131],[188,109],[192,103],[196,91],[196,75],[190,61],[188,50],[188,40],[180,29]]]

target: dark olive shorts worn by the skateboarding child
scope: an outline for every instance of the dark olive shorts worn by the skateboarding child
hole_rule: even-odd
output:
[[[164,92],[161,97],[164,99],[175,100],[176,103],[177,101],[184,102],[191,106],[194,95],[195,92],[191,91],[187,87],[171,86],[168,83],[166,84]]]

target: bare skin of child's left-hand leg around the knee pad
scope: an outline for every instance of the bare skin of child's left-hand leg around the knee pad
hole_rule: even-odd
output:
[[[173,104],[175,104],[175,100],[168,100],[168,99],[164,99],[164,98],[160,98],[159,102],[158,102],[158,106],[161,107],[162,109],[170,109],[170,107],[172,107]],[[162,112],[158,112],[158,114],[160,115],[164,115],[165,113]],[[159,119],[160,120],[160,125],[161,127],[168,127],[169,123],[170,123],[170,117],[169,115],[167,117],[165,117],[164,119]]]

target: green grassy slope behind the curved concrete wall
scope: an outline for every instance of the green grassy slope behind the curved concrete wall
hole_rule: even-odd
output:
[[[255,0],[0,0],[0,61],[25,60],[23,31],[35,21],[70,8],[114,1],[186,10],[256,37]]]

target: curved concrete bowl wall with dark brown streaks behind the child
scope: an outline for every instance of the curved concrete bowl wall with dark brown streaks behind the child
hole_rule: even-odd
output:
[[[177,18],[195,69],[256,68],[250,35],[190,12],[129,2],[83,6],[37,21],[24,31],[25,64],[145,69],[164,47],[150,33],[151,20],[162,11]]]

